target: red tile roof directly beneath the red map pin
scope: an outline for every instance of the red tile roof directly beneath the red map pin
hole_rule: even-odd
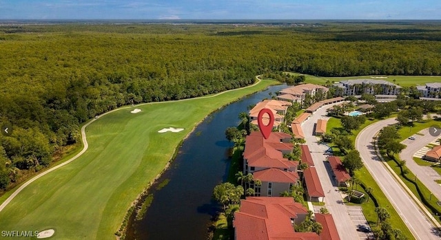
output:
[[[243,157],[248,166],[261,168],[297,168],[298,163],[283,157],[281,151],[293,149],[293,144],[283,142],[291,138],[287,133],[271,133],[268,139],[254,131],[245,140]]]

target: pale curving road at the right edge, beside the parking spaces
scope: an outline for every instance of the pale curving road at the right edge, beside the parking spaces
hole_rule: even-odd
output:
[[[407,147],[401,151],[400,159],[405,160],[407,168],[420,179],[424,186],[429,188],[434,197],[441,200],[441,186],[435,182],[435,179],[440,179],[438,173],[431,169],[430,166],[420,166],[413,160],[413,154],[433,140],[441,138],[441,135],[433,137],[429,134],[429,129],[424,129],[420,131],[420,133],[424,133],[424,135],[413,135],[416,140],[407,139],[401,142],[402,144],[407,145]],[[438,177],[434,177],[434,174],[438,175]]]

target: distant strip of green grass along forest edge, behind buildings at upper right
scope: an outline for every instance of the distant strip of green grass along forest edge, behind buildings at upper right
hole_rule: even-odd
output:
[[[321,76],[311,76],[307,75],[305,83],[314,83],[314,84],[320,84],[324,85],[328,80],[331,82],[338,82],[340,80],[349,80],[349,79],[373,79],[372,76],[350,76],[350,77],[321,77]],[[373,76],[376,77],[376,76]],[[386,76],[386,79],[391,83],[394,83],[393,80],[395,79],[395,84],[400,85],[402,87],[410,87],[415,86],[417,83],[419,85],[424,85],[425,83],[435,83],[435,82],[441,82],[441,76]]]

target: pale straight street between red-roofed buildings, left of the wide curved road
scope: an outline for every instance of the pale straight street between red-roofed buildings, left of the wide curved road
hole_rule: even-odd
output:
[[[327,155],[323,155],[327,146],[323,144],[318,144],[316,136],[312,135],[314,131],[314,124],[317,120],[328,119],[326,116],[326,109],[332,107],[333,105],[327,105],[318,109],[308,120],[302,124],[302,130],[305,133],[305,140],[311,151],[312,159],[314,160],[314,165],[320,178],[320,183],[325,191],[325,204],[329,213],[334,217],[336,222],[338,234],[342,240],[354,240],[358,238],[358,232],[356,231],[356,225],[351,220],[349,212],[345,204],[342,204],[342,197],[336,186],[336,182],[332,177],[332,173],[329,169],[329,164],[326,161]]]

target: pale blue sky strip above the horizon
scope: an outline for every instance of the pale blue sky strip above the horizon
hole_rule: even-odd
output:
[[[0,19],[441,19],[440,0],[0,0]]]

